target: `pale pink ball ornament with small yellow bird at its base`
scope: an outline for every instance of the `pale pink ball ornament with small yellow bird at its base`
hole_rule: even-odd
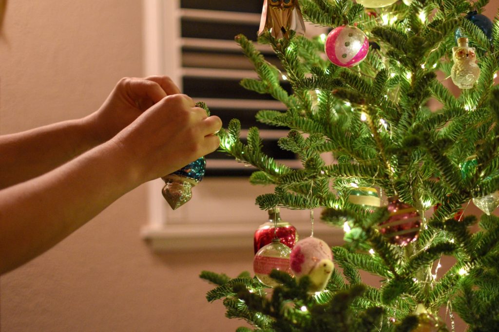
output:
[[[333,272],[333,253],[326,242],[307,237],[294,245],[289,265],[296,279],[309,277],[310,292],[319,292],[326,287]]]

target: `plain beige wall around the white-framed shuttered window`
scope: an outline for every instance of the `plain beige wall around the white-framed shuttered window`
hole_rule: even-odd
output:
[[[141,76],[141,29],[139,0],[10,0],[0,40],[0,134],[82,117],[120,77]],[[250,270],[251,238],[242,252],[152,254],[139,237],[145,196],[145,186],[126,194],[2,276],[1,331],[224,332],[243,325],[226,319],[220,302],[206,302],[211,287],[198,274]]]

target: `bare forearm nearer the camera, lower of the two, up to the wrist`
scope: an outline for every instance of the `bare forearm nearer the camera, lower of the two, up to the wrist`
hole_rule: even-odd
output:
[[[0,190],[0,273],[57,244],[143,180],[112,142]]]

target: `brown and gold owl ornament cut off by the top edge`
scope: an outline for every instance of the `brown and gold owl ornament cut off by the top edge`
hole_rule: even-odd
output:
[[[270,30],[274,38],[289,38],[289,30],[305,34],[298,0],[264,0],[258,35]]]

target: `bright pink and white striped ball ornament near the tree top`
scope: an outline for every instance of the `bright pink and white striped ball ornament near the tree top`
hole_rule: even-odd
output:
[[[335,65],[352,67],[367,56],[369,40],[358,27],[341,25],[329,32],[324,49],[329,60]]]

